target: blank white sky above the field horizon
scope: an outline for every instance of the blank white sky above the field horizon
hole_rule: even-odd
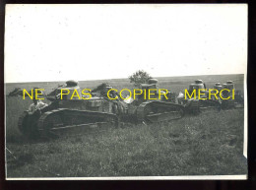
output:
[[[246,5],[7,5],[5,82],[242,74]]]

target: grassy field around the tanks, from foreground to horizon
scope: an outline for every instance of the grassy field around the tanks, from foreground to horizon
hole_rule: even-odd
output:
[[[211,88],[215,82],[235,81],[243,90],[243,76],[159,78],[160,88],[183,91],[195,79]],[[80,82],[94,88],[102,81]],[[114,88],[132,88],[127,80],[111,80]],[[60,83],[7,84],[41,87],[48,93]],[[7,177],[94,177],[246,174],[243,158],[243,109],[186,115],[158,125],[92,128],[78,136],[30,142],[17,129],[19,115],[32,100],[6,97]]]

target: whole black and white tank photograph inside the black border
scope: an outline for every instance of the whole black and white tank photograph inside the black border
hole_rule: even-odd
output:
[[[8,4],[6,179],[247,179],[246,4]]]

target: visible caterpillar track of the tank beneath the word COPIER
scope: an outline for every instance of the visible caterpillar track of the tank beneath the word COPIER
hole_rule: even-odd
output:
[[[180,119],[184,115],[184,106],[172,102],[147,101],[137,108],[138,121],[157,123],[173,119]]]

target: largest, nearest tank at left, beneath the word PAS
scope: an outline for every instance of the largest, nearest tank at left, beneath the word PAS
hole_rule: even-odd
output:
[[[70,91],[68,95],[60,98],[61,89]],[[59,87],[50,93],[47,98],[51,103],[39,111],[30,114],[25,111],[19,119],[20,131],[29,137],[42,135],[45,137],[58,136],[67,131],[81,131],[92,125],[117,126],[118,117],[111,111],[111,103],[107,103],[103,97],[92,96],[90,99],[82,99],[73,96],[74,91],[80,97],[83,95],[78,82],[68,81],[66,86]]]

